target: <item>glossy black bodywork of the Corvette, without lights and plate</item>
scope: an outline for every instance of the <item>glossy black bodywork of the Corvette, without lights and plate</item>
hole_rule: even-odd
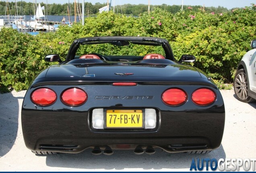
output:
[[[140,37],[111,39],[149,40]],[[111,39],[100,38],[101,41]],[[72,45],[79,40],[94,41],[93,38],[83,38],[75,40]],[[155,40],[170,47],[164,39]],[[167,152],[183,152],[213,150],[221,145],[225,108],[219,89],[199,69],[173,61],[170,48],[165,50],[169,52],[169,64],[165,60],[147,63],[145,60],[110,62],[89,59],[82,63],[81,59],[74,59],[73,46],[66,61],[43,70],[27,90],[22,106],[23,136],[27,148],[32,151],[79,153],[95,146],[118,149],[117,145],[140,145],[160,147]],[[73,58],[69,59],[70,56]],[[136,85],[114,86],[113,82],[134,82]],[[54,91],[56,101],[50,106],[34,104],[31,94],[39,88]],[[86,103],[74,107],[65,105],[61,95],[70,88],[85,91],[88,95]],[[163,92],[176,88],[185,91],[188,96],[186,102],[178,106],[165,104]],[[192,101],[192,93],[202,88],[216,94],[214,103],[200,106]],[[95,129],[92,126],[94,109],[154,109],[156,126],[153,129]]]

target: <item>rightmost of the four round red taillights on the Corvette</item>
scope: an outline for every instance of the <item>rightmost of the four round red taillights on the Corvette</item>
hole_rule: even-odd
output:
[[[211,89],[198,89],[192,93],[192,101],[196,105],[207,106],[216,101],[216,94]]]

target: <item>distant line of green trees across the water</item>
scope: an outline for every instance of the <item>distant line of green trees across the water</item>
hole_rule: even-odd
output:
[[[43,2],[40,2],[41,6],[45,6],[46,4]],[[80,5],[80,8],[82,7],[81,3],[77,3],[78,6]],[[18,13],[19,15],[34,15],[34,7],[32,2],[23,2],[23,1],[17,1],[18,6]],[[97,14],[99,12],[99,8],[102,8],[103,6],[106,6],[107,3],[95,3],[92,4],[91,2],[85,2],[85,14],[87,15],[93,15]],[[73,3],[66,3],[66,4],[47,4],[47,13],[48,15],[58,15],[58,16],[65,16],[68,14],[68,6],[69,6],[69,13],[74,14],[74,2]],[[15,11],[17,10],[15,2],[8,2],[8,14],[15,15]],[[192,7],[193,9],[197,8],[204,8],[204,11],[206,12],[215,12],[215,13],[224,13],[229,12],[233,9],[228,10],[227,8],[218,6],[218,7],[202,7],[202,6],[184,6],[184,9]],[[111,10],[113,10],[113,6],[110,7]],[[151,11],[155,10],[156,8],[160,8],[163,10],[166,10],[168,12],[171,12],[172,14],[175,14],[180,11],[181,6],[180,5],[150,5]],[[122,13],[126,15],[131,16],[138,16],[139,14],[143,12],[148,11],[148,5],[147,4],[123,4],[122,6],[116,5],[115,6],[115,13]],[[6,15],[6,2],[1,1],[0,2],[0,15]]]

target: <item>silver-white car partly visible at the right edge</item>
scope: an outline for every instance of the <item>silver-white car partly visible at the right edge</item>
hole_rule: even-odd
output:
[[[245,103],[256,100],[256,39],[251,47],[239,62],[233,83],[237,99]]]

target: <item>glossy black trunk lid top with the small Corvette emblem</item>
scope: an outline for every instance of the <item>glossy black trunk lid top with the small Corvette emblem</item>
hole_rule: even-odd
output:
[[[51,66],[47,71],[46,77],[79,77],[85,78],[182,78],[198,77],[200,73],[192,66],[179,64],[171,65],[56,65]]]

